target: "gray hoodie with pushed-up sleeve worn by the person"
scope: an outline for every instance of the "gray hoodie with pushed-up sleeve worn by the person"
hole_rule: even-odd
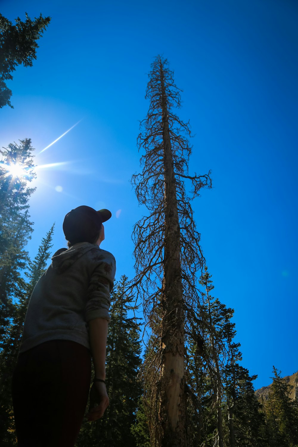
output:
[[[71,340],[90,349],[88,322],[110,321],[115,271],[113,255],[97,245],[82,242],[59,249],[34,287],[20,353],[50,340]]]

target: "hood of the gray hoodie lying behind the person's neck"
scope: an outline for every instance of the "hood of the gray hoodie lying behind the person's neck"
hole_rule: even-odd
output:
[[[89,250],[94,249],[96,245],[89,242],[81,242],[80,244],[72,245],[69,249],[59,249],[52,256],[52,268],[56,273],[65,272],[72,264],[74,264],[83,254]]]

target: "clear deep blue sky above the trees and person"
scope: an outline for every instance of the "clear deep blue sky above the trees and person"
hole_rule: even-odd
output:
[[[243,366],[270,383],[298,369],[297,137],[298,3],[295,0],[1,0],[0,12],[49,15],[31,68],[18,67],[12,104],[0,110],[1,146],[31,138],[37,190],[28,250],[56,223],[53,252],[66,246],[64,215],[109,208],[103,249],[117,278],[134,275],[131,232],[139,207],[139,120],[147,73],[168,59],[184,90],[180,118],[194,138],[189,170],[212,169],[212,190],[193,202],[214,295],[235,309]],[[59,141],[40,153],[78,123]],[[295,230],[296,228],[296,230]]]

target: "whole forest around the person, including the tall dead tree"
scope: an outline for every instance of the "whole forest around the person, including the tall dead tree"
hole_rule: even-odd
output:
[[[27,16],[14,25],[0,15],[0,108],[13,107],[6,81],[17,65],[33,64],[48,25],[49,17]],[[276,365],[269,393],[255,395],[256,376],[241,363],[235,342],[234,310],[217,297],[208,270],[192,201],[212,188],[212,172],[189,172],[192,135],[189,122],[179,117],[181,95],[168,60],[158,55],[148,75],[148,112],[136,135],[140,171],[131,177],[146,209],[132,234],[135,276],[117,272],[111,294],[110,405],[101,420],[84,420],[76,446],[297,447],[297,393],[296,398],[290,394],[298,387],[298,373],[290,385]],[[53,222],[36,256],[30,259],[26,251],[34,231],[29,208],[35,190],[30,182],[36,177],[33,146],[28,136],[0,150],[3,446],[17,445],[11,376],[30,296],[53,254]]]

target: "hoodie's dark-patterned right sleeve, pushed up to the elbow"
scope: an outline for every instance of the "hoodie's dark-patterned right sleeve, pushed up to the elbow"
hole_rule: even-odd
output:
[[[88,323],[95,318],[105,318],[110,321],[110,291],[116,272],[116,263],[113,255],[106,261],[100,262],[92,273],[88,291],[85,319]]]

